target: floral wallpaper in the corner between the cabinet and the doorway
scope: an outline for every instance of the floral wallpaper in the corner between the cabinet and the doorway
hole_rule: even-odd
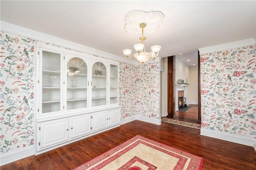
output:
[[[120,63],[120,105],[122,118],[140,115],[160,119],[159,63]]]

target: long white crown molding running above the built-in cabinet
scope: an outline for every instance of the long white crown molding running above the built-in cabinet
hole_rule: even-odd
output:
[[[1,31],[2,32],[15,34],[17,36],[24,36],[26,38],[32,38],[34,40],[44,42],[44,43],[51,43],[51,44],[54,44],[54,45],[60,45],[62,47],[68,47],[70,49],[78,50],[78,51],[87,53],[89,55],[96,55],[96,56],[100,56],[100,57],[106,57],[108,59],[112,59],[112,60],[115,60],[115,61],[121,61],[121,62],[124,62],[124,63],[137,65],[136,61],[128,60],[128,59],[126,59],[124,57],[120,57],[118,55],[110,54],[110,53],[107,53],[107,52],[104,52],[104,51],[100,51],[98,49],[87,47],[85,45],[70,42],[68,40],[64,40],[64,39],[61,39],[61,38],[58,38],[58,37],[50,36],[48,34],[37,32],[37,31],[34,31],[34,30],[30,30],[28,28],[20,27],[20,26],[14,25],[14,24],[10,24],[8,22],[0,21],[0,25],[1,25]]]

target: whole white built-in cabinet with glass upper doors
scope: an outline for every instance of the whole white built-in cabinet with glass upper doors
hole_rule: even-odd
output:
[[[37,152],[120,125],[118,62],[37,47]]]

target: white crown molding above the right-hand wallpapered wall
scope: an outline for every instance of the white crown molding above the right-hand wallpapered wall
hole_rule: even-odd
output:
[[[199,52],[200,54],[204,53],[210,53],[210,52],[216,52],[216,51],[223,51],[227,49],[233,49],[233,48],[238,48],[238,47],[246,47],[249,45],[255,45],[256,41],[255,38],[250,38],[246,40],[240,40],[236,42],[230,42],[230,43],[224,43],[220,45],[214,45],[210,47],[205,47],[205,48],[200,48]]]

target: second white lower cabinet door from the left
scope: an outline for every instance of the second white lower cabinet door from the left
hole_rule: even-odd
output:
[[[79,115],[70,118],[70,138],[82,136],[91,131],[91,115]]]

